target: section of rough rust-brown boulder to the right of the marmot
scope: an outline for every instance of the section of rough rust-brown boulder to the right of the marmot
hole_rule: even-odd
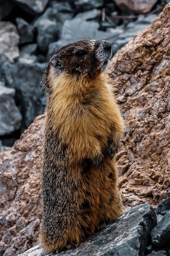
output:
[[[170,195],[170,4],[110,63],[126,130],[117,154],[125,205]]]

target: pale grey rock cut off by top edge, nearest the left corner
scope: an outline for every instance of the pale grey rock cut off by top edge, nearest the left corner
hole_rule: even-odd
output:
[[[35,15],[44,11],[49,0],[12,0],[12,2],[24,9],[24,11]]]

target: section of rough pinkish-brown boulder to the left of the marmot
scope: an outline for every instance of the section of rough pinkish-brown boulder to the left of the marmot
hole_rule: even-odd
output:
[[[43,121],[43,116],[38,117],[11,150],[0,154],[0,255],[3,256],[25,252],[38,238]]]

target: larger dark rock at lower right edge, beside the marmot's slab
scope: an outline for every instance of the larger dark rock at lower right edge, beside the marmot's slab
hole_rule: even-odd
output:
[[[150,233],[152,243],[159,247],[168,245],[170,242],[170,210],[163,216],[161,221]]]

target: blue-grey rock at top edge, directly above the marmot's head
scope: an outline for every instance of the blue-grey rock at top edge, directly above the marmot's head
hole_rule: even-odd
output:
[[[75,0],[74,4],[77,9],[88,11],[101,7],[104,4],[104,0]]]

